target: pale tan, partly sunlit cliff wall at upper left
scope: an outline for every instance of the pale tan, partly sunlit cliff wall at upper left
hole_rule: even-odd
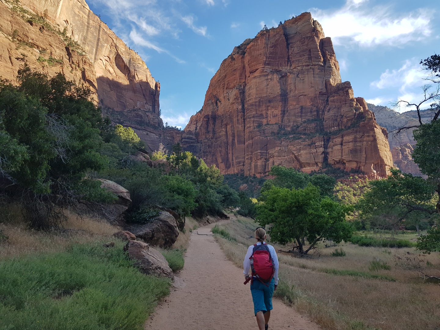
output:
[[[3,78],[15,79],[22,54],[37,70],[88,84],[104,114],[158,149],[160,84],[84,0],[0,0]]]

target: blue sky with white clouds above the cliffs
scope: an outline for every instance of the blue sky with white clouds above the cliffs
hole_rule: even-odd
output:
[[[426,77],[418,63],[440,53],[439,0],[87,2],[147,63],[161,83],[163,121],[181,128],[201,109],[209,81],[235,46],[264,24],[304,11],[332,38],[342,81],[370,103],[418,100]]]

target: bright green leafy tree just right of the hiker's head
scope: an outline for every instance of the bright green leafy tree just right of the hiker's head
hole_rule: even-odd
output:
[[[300,254],[307,254],[319,241],[341,242],[352,235],[352,227],[345,221],[348,208],[322,197],[311,183],[304,189],[271,187],[262,195],[264,202],[256,205],[259,224],[271,224],[269,235],[274,242],[295,241]]]

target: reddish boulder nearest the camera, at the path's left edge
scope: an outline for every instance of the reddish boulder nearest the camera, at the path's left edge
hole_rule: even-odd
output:
[[[128,241],[124,246],[124,251],[128,252],[130,259],[136,260],[135,265],[144,274],[174,279],[168,261],[158,250],[153,249],[147,243]]]

